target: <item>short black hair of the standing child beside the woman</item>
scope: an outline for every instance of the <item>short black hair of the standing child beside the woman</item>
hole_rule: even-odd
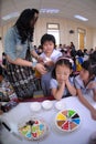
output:
[[[54,38],[54,35],[45,33],[41,38],[41,45],[43,45],[46,41],[52,41],[54,43],[54,45],[55,45],[55,38]]]

